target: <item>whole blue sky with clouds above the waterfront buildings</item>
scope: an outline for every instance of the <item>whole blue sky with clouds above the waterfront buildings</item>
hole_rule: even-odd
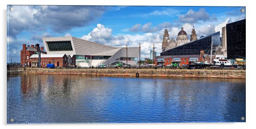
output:
[[[148,58],[153,43],[159,54],[165,26],[176,39],[180,27],[190,37],[195,26],[198,37],[221,31],[228,22],[245,19],[245,7],[202,6],[33,6],[9,5],[7,62],[20,62],[22,44],[40,43],[42,37],[73,36],[99,44],[142,46]]]

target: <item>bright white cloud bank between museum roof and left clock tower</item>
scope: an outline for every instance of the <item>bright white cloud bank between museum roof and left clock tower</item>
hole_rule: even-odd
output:
[[[82,39],[94,41],[99,44],[105,44],[114,47],[139,47],[141,44],[141,57],[149,58],[150,50],[153,49],[155,44],[155,51],[158,53],[162,52],[162,31],[156,33],[144,33],[144,34],[124,34],[119,36],[112,36],[112,29],[106,28],[102,24],[97,24],[88,35],[82,36]]]

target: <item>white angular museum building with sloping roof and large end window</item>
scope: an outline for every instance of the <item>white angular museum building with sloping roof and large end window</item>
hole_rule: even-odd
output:
[[[45,37],[43,43],[47,54],[74,56],[78,67],[126,64],[126,56],[128,65],[135,65],[139,58],[139,47],[111,47],[74,37]]]

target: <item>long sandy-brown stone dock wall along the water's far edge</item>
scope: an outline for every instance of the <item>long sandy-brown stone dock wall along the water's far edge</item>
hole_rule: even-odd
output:
[[[26,68],[24,74],[68,74],[139,77],[213,77],[245,79],[245,70],[223,69],[39,69]]]

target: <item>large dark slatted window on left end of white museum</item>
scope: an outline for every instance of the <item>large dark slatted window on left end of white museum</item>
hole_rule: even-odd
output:
[[[73,51],[71,41],[47,41],[49,51]]]

